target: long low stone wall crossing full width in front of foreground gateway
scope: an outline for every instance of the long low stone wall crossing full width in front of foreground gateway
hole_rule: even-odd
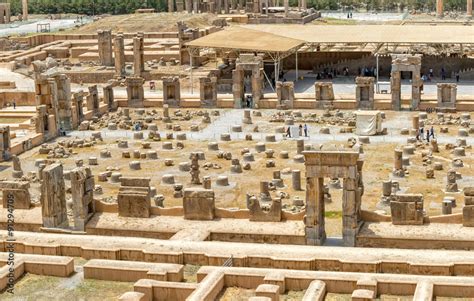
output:
[[[39,235],[39,236],[38,236]],[[35,237],[49,237],[53,234],[35,234]],[[59,235],[59,234],[54,234]],[[199,251],[200,247],[192,251],[171,251],[157,249],[156,251],[134,249],[132,247],[120,247],[115,243],[111,246],[104,238],[89,237],[84,235],[65,235],[70,237],[67,243],[57,243],[54,239],[29,240],[24,241],[21,234],[15,242],[15,252],[22,254],[40,254],[56,256],[73,256],[85,259],[108,259],[108,260],[131,260],[143,262],[162,262],[175,264],[194,264],[221,266],[231,254],[218,252],[210,254],[206,250]],[[84,237],[86,240],[77,240]],[[102,243],[99,243],[100,242]],[[157,242],[157,244],[165,242]],[[7,242],[5,238],[0,241],[0,251],[4,252]],[[213,244],[204,242],[201,244]],[[282,246],[284,247],[284,246]],[[255,245],[258,249],[258,245]],[[176,249],[176,248],[173,248]],[[216,249],[217,250],[217,249]],[[305,255],[305,258],[298,258],[290,253],[282,253],[282,257],[264,255],[235,255],[233,256],[233,266],[235,267],[258,267],[273,269],[294,269],[294,270],[317,270],[317,271],[339,271],[358,273],[384,273],[384,274],[412,274],[412,275],[445,275],[445,276],[474,276],[474,262],[451,262],[440,264],[439,262],[421,263],[412,261],[410,257],[403,257],[399,260],[370,260],[360,261],[351,258],[330,259],[328,254]],[[330,255],[329,255],[330,256]],[[326,258],[325,258],[326,257]]]

